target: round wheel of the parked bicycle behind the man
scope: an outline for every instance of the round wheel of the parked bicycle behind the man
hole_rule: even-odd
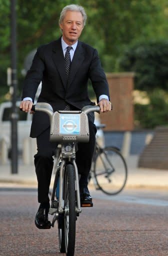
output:
[[[115,147],[107,146],[97,153],[93,171],[98,188],[106,194],[117,194],[125,186],[126,162]]]

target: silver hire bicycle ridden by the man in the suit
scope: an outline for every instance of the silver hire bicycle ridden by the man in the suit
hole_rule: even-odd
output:
[[[78,171],[75,163],[77,142],[88,142],[89,128],[87,113],[99,112],[99,106],[84,106],[79,111],[55,111],[50,104],[38,102],[32,108],[44,111],[50,119],[50,141],[58,142],[61,156],[56,164],[51,192],[49,214],[53,215],[51,226],[57,221],[59,250],[66,256],[74,255],[75,223],[81,212]]]

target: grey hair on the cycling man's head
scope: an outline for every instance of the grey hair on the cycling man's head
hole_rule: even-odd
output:
[[[86,19],[87,19],[87,15],[85,13],[85,10],[82,6],[80,5],[77,5],[77,4],[69,4],[69,5],[66,5],[62,11],[60,12],[60,17],[59,17],[59,24],[62,23],[64,17],[65,17],[65,14],[66,14],[66,11],[79,11],[83,17],[83,26],[85,25],[86,23]]]

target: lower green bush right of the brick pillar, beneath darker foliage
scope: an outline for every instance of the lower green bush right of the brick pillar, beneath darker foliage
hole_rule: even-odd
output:
[[[135,126],[138,128],[154,128],[168,125],[168,94],[155,89],[148,93],[149,104],[134,104]]]

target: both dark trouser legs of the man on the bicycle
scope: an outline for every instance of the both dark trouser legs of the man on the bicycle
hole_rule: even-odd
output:
[[[79,186],[87,186],[87,176],[91,166],[95,145],[95,125],[89,121],[89,142],[78,143],[76,152],[76,165],[81,174]],[[35,172],[38,181],[38,202],[48,202],[48,191],[53,168],[53,155],[57,143],[49,141],[49,128],[37,138],[37,153],[34,155]]]

